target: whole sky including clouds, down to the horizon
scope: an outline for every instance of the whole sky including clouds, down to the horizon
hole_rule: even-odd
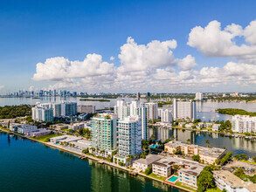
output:
[[[255,7],[0,0],[0,94],[256,92]]]

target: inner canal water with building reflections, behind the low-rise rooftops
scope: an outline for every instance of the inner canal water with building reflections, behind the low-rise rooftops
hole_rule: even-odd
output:
[[[256,141],[245,138],[235,138],[216,133],[204,133],[190,130],[180,130],[167,127],[149,127],[149,137],[154,134],[156,140],[172,139],[175,141],[191,141],[192,144],[207,147],[205,141],[210,141],[211,147],[226,147],[233,154],[256,155]]]

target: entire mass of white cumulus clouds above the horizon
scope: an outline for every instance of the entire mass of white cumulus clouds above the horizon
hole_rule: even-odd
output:
[[[37,64],[32,79],[52,81],[50,89],[73,87],[110,92],[169,92],[194,86],[204,90],[206,86],[256,84],[256,21],[245,29],[239,24],[230,24],[222,30],[216,20],[205,27],[196,26],[190,31],[187,45],[206,57],[229,58],[230,61],[222,67],[207,65],[196,70],[196,58],[192,55],[174,56],[175,39],[152,40],[147,45],[138,45],[129,37],[120,48],[120,65],[103,61],[102,56],[95,53],[87,54],[82,61],[47,58],[45,63]],[[114,61],[114,57],[110,61]]]

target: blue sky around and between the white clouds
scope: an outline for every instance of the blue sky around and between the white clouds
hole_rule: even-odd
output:
[[[197,43],[193,46],[187,43],[193,28],[196,26],[204,28],[214,20],[221,24],[222,30],[230,24],[239,24],[245,28],[256,19],[255,7],[255,1],[0,1],[0,87],[3,87],[0,93],[28,90],[30,86],[33,86],[31,88],[34,90],[43,87],[48,89],[50,86],[57,89],[62,87],[71,90],[82,89],[81,91],[88,92],[119,92],[124,91],[120,90],[123,85],[127,86],[125,90],[128,92],[256,91],[254,84],[256,79],[250,79],[249,83],[246,82],[246,86],[241,82],[234,82],[236,80],[228,79],[225,81],[225,86],[218,82],[218,86],[211,87],[205,84],[196,89],[195,86],[202,81],[190,81],[187,83],[194,86],[186,86],[186,81],[182,79],[183,89],[180,90],[177,84],[166,86],[171,84],[171,79],[164,79],[161,83],[158,82],[161,79],[150,79],[152,72],[150,75],[147,73],[149,79],[145,79],[144,82],[129,81],[128,78],[122,85],[115,85],[116,81],[120,82],[120,79],[115,78],[109,79],[107,85],[102,87],[97,86],[99,82],[95,80],[96,76],[99,77],[98,73],[91,79],[86,79],[86,73],[83,80],[81,76],[32,79],[35,73],[40,73],[36,71],[37,64],[45,63],[46,58],[64,57],[69,61],[82,61],[89,53],[99,54],[103,61],[114,63],[114,68],[109,70],[118,71],[117,68],[121,64],[129,65],[125,59],[118,58],[121,54],[121,46],[127,44],[128,37],[132,37],[137,45],[147,45],[152,40],[164,42],[175,39],[177,46],[171,51],[176,59],[185,58],[188,54],[195,58],[197,65],[190,69],[190,72],[192,70],[199,72],[203,67],[211,66],[219,67],[221,71],[222,67],[231,61],[245,64],[245,60],[238,59],[236,54],[228,57],[214,54],[213,57],[209,57],[211,52],[208,54],[199,51],[200,45]],[[248,44],[244,40],[246,37],[239,38],[241,37],[232,40],[237,45]],[[109,59],[111,56],[115,58],[113,61]],[[149,65],[147,70],[164,69],[170,72],[169,66],[171,66],[176,73],[180,72],[179,61],[176,61],[175,65],[173,62],[169,61],[157,67]],[[256,66],[255,63],[247,65],[252,65],[248,67],[255,71],[255,67],[253,68]],[[141,69],[139,71],[142,72]],[[45,75],[45,73],[41,74]],[[134,76],[140,79],[138,78],[140,74],[131,74],[127,70],[122,71],[123,74],[129,75],[130,79]],[[109,75],[113,76],[111,72]],[[121,76],[116,73],[114,75]],[[100,73],[101,84],[104,84],[106,77],[101,76]],[[91,83],[93,86],[85,86]],[[138,84],[141,86],[137,86]],[[150,86],[153,84],[154,86]],[[164,86],[159,90],[152,88],[160,87],[157,86],[160,84]]]

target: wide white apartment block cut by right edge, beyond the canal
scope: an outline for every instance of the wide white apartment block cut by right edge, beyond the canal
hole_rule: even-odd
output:
[[[256,117],[239,114],[232,116],[232,131],[237,133],[256,133]]]

